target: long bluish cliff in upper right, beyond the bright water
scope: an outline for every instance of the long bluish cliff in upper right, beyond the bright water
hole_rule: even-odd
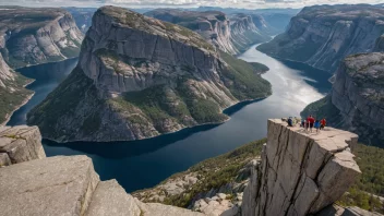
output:
[[[257,49],[334,72],[345,57],[374,50],[383,33],[383,8],[315,5],[304,8],[284,34]]]

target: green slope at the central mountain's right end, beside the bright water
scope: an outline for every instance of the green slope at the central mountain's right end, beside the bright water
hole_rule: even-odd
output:
[[[254,65],[224,51],[220,51],[220,57],[229,64],[229,69],[223,70],[223,73],[229,80],[227,87],[236,98],[256,99],[272,94],[269,82],[254,72]]]

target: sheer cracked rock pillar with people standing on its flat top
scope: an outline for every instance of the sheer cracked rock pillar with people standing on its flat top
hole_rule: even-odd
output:
[[[308,215],[337,201],[360,175],[350,148],[358,136],[327,128],[308,134],[268,120],[268,141],[252,172],[242,215]]]

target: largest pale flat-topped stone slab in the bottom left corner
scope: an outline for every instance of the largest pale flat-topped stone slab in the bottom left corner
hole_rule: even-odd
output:
[[[0,179],[1,215],[84,215],[99,182],[86,156],[3,167]]]

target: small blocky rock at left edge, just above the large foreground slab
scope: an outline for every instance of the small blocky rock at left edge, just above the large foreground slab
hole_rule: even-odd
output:
[[[45,157],[37,127],[0,127],[0,167]]]

